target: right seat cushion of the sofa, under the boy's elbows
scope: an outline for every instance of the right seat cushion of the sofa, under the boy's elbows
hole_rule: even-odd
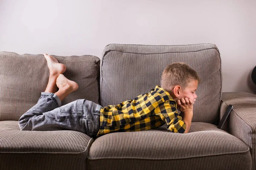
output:
[[[140,132],[110,133],[90,147],[89,169],[250,170],[249,147],[215,125],[193,122],[190,133],[171,133],[166,125]]]

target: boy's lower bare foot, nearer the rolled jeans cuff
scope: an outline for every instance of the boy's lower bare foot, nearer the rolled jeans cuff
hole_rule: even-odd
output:
[[[67,79],[63,74],[60,74],[56,80],[56,85],[60,92],[65,92],[70,94],[78,89],[78,84]]]

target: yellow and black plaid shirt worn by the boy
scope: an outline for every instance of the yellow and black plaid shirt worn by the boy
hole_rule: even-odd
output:
[[[177,112],[175,100],[163,88],[156,86],[148,94],[102,108],[97,136],[153,129],[165,123],[172,132],[184,133],[186,130],[186,124]]]

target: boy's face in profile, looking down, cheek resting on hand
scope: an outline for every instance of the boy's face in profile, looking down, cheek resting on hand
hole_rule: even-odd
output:
[[[189,82],[186,88],[181,88],[180,96],[178,97],[178,99],[182,99],[186,97],[191,101],[195,102],[195,99],[197,98],[197,95],[195,94],[197,87],[198,87],[198,81],[192,80],[191,82]]]

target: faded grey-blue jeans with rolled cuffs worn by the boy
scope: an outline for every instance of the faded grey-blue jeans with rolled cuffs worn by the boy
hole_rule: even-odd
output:
[[[58,96],[42,92],[38,103],[20,117],[19,127],[20,130],[76,130],[96,136],[101,108],[86,99],[61,106]]]

